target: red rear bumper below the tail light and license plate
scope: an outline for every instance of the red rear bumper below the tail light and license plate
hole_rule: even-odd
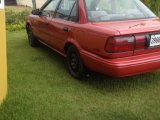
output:
[[[126,77],[160,69],[160,51],[132,57],[106,59],[81,51],[84,64],[90,70],[112,77]]]

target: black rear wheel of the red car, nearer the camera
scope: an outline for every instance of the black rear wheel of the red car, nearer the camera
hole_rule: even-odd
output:
[[[80,57],[79,51],[73,45],[67,49],[67,66],[71,76],[76,79],[81,79],[85,75],[85,66]]]

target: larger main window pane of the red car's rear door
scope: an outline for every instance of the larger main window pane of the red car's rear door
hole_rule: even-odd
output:
[[[75,0],[62,0],[56,13],[56,18],[68,20]]]

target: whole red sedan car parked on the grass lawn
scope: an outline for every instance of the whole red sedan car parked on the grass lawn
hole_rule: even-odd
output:
[[[160,19],[140,0],[48,0],[26,21],[29,43],[87,70],[125,77],[160,69]]]

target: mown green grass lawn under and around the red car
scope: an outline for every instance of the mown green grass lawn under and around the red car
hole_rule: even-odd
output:
[[[65,59],[8,32],[8,95],[0,120],[160,120],[160,71],[128,78],[72,78]]]

